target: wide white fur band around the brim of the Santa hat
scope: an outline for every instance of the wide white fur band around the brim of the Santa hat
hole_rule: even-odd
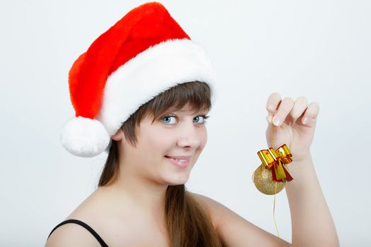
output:
[[[167,40],[141,52],[108,78],[99,119],[110,136],[142,105],[180,83],[199,80],[213,90],[213,66],[192,40]]]

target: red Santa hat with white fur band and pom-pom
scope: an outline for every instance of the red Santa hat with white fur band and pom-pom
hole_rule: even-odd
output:
[[[73,63],[69,91],[76,116],[62,129],[73,155],[93,157],[142,105],[179,83],[199,80],[213,88],[204,52],[159,3],[134,8]]]

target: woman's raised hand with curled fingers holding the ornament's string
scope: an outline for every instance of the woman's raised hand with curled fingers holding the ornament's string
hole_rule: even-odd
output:
[[[298,97],[294,102],[290,97],[281,100],[281,95],[273,92],[266,103],[268,127],[266,128],[266,142],[271,143],[273,128],[273,149],[276,150],[286,144],[293,154],[293,161],[301,162],[310,157],[314,129],[319,113],[319,104],[312,102],[308,105],[305,97]],[[272,126],[272,117],[273,124]]]

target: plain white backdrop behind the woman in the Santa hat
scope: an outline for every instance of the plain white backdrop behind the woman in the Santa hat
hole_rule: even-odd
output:
[[[42,246],[95,189],[105,155],[59,143],[73,116],[67,75],[102,32],[143,1],[1,1],[0,246]],[[208,145],[189,191],[276,234],[273,196],[254,188],[266,99],[307,97],[320,113],[312,157],[341,246],[370,246],[371,1],[163,1],[219,77]],[[311,186],[308,184],[307,186]],[[285,191],[280,236],[291,241]]]

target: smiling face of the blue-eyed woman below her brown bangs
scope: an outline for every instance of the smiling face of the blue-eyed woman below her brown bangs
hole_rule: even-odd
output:
[[[193,112],[186,106],[169,109],[155,121],[144,118],[136,129],[136,147],[122,142],[124,164],[157,183],[186,183],[207,141],[207,112]]]

